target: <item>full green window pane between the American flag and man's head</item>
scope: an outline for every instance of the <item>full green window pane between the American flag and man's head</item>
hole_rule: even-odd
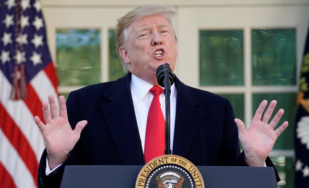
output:
[[[59,85],[100,83],[100,30],[57,30],[56,40]]]

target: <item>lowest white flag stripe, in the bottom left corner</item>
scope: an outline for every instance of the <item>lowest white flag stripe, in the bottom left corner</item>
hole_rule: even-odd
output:
[[[0,71],[1,72],[1,71]],[[0,162],[18,188],[34,188],[36,184],[27,166],[0,129]],[[3,181],[3,180],[0,180]]]

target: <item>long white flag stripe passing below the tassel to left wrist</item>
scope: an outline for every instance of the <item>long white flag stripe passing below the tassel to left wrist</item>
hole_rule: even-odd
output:
[[[0,102],[21,132],[23,132],[36,155],[36,160],[39,162],[45,148],[40,129],[37,127],[33,115],[24,101],[10,99],[12,85],[2,71],[0,71],[0,88],[2,89],[0,92]]]

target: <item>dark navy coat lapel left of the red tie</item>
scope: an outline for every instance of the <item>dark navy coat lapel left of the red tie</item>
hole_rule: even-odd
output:
[[[104,94],[102,110],[124,165],[145,164],[130,89],[131,73],[118,79]]]

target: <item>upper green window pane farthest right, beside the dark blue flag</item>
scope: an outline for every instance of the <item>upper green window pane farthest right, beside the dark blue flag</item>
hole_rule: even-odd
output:
[[[295,29],[252,30],[252,84],[296,84]]]

